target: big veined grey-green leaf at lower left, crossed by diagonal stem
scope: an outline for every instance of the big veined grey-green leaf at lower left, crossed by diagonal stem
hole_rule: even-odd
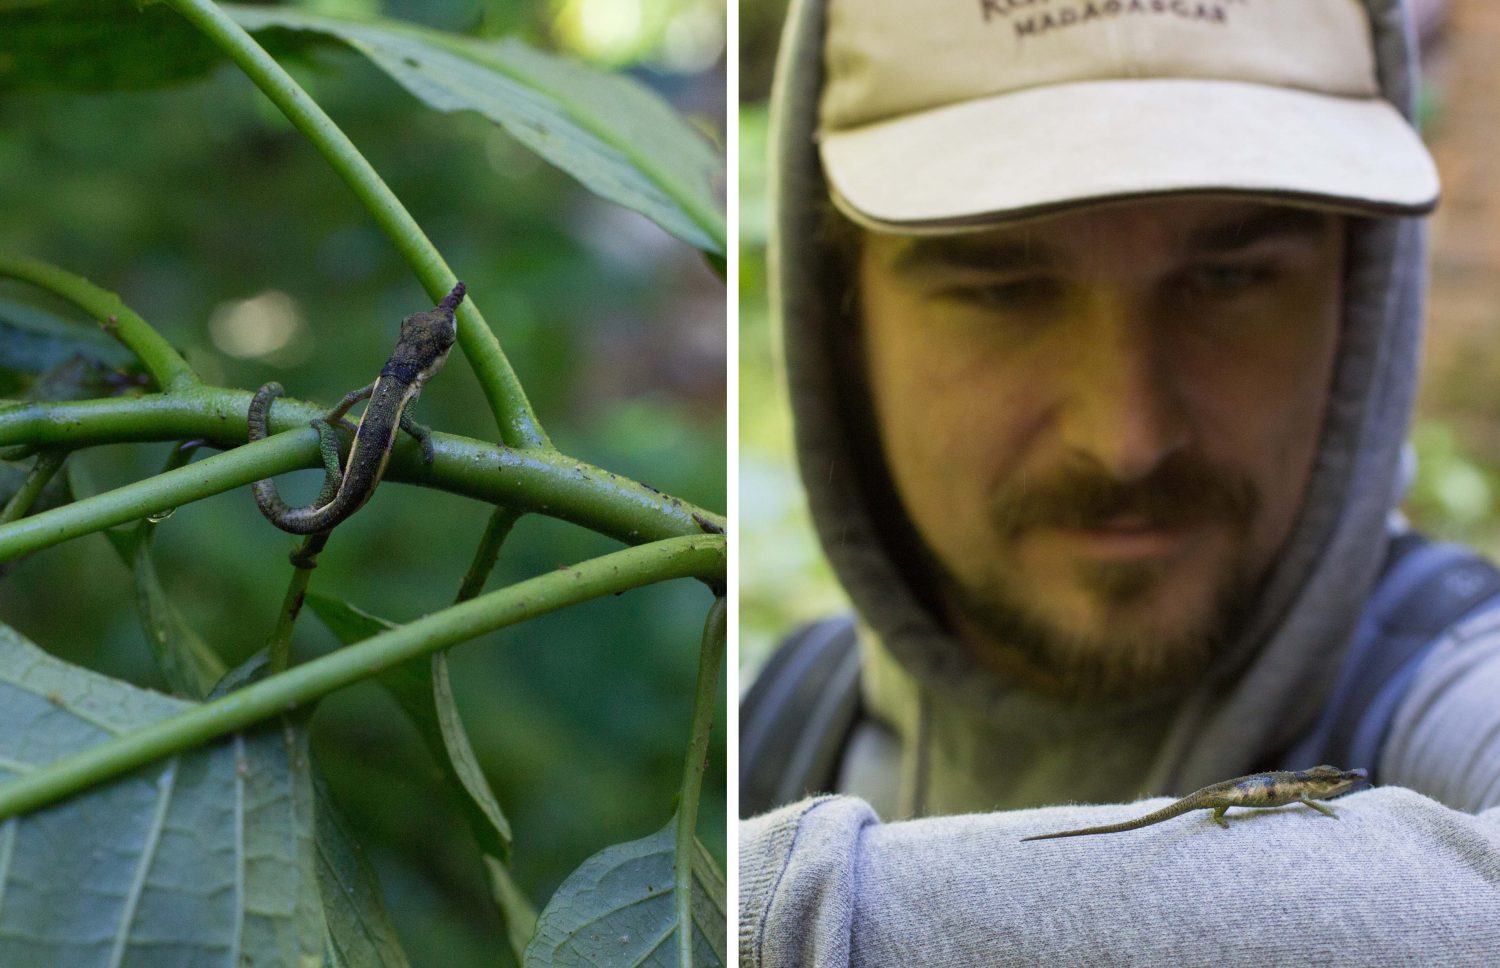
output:
[[[0,626],[0,782],[189,704]],[[0,822],[0,965],[322,957],[306,738],[268,725]]]

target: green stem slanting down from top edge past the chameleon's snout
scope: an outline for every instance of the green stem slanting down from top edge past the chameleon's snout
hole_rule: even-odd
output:
[[[166,0],[166,3],[238,65],[261,93],[270,98],[292,126],[322,153],[411,266],[434,302],[453,288],[456,281],[453,270],[442,261],[396,194],[318,102],[308,96],[308,92],[243,27],[210,0]],[[510,360],[500,348],[489,323],[476,308],[472,294],[459,306],[458,318],[459,345],[464,347],[464,354],[495,413],[501,440],[510,447],[550,447],[520,381],[510,368]]]

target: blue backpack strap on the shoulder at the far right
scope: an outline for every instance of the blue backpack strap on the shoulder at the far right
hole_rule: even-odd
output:
[[[1312,731],[1287,750],[1284,765],[1364,767],[1372,779],[1380,749],[1418,668],[1448,630],[1500,606],[1500,570],[1460,545],[1414,531],[1395,536],[1344,668]]]

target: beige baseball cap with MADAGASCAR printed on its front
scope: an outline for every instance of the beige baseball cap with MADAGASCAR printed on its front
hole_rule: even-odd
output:
[[[872,228],[1161,194],[1437,203],[1360,0],[828,0],[824,56],[824,168]]]

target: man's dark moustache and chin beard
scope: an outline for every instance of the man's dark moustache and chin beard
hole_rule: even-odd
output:
[[[1136,482],[1119,482],[1090,464],[1048,480],[1006,485],[990,501],[990,524],[1004,545],[1032,528],[1090,530],[1128,516],[1144,527],[1227,525],[1234,557],[1221,578],[1206,618],[1172,638],[1124,629],[1074,635],[1030,608],[1014,576],[994,575],[986,587],[969,587],[932,558],[939,594],[963,624],[984,642],[1002,648],[1041,672],[1074,698],[1140,696],[1179,692],[1197,681],[1248,617],[1257,576],[1245,561],[1251,522],[1260,509],[1252,482],[1192,453],[1178,453]],[[1143,606],[1167,572],[1164,563],[1086,563],[1077,573],[1106,614]]]

